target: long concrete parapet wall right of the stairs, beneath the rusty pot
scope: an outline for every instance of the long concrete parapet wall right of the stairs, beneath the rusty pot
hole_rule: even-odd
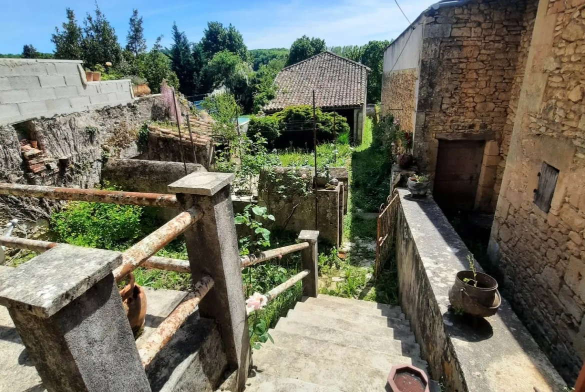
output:
[[[565,383],[508,301],[473,328],[448,310],[449,289],[468,268],[470,251],[431,198],[411,199],[406,189],[398,194],[400,302],[432,378],[444,377],[449,391],[562,391]]]

